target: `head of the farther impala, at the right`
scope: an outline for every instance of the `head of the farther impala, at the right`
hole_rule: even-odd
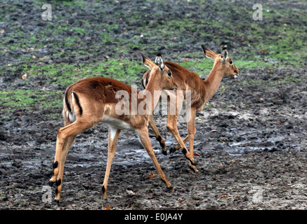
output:
[[[233,59],[228,57],[227,48],[223,48],[221,54],[216,55],[212,50],[209,50],[202,45],[204,55],[214,60],[214,66],[218,66],[218,70],[223,71],[224,76],[230,76],[231,78],[237,78],[239,76],[239,69],[233,64]]]

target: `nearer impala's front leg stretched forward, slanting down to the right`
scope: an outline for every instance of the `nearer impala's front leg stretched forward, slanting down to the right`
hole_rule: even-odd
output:
[[[164,172],[162,171],[159,162],[157,161],[157,158],[155,157],[155,153],[152,148],[152,144],[150,142],[149,136],[148,136],[148,127],[143,127],[138,130],[138,137],[140,137],[141,143],[143,144],[144,148],[146,149],[148,155],[152,159],[152,162],[154,163],[157,172],[159,174],[160,179],[166,184],[167,188],[171,188],[171,183],[169,183],[168,179],[166,178]]]

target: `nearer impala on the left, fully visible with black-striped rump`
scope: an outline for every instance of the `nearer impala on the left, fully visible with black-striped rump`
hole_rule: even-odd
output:
[[[143,57],[143,64],[150,68],[150,80],[145,90],[152,95],[159,94],[161,91],[155,90],[173,90],[177,87],[170,69],[165,66],[161,55],[157,55],[155,63],[150,59]],[[119,99],[116,93],[125,90],[129,93],[129,99]],[[105,178],[103,181],[103,199],[107,199],[107,181],[110,175],[112,160],[115,156],[117,139],[121,130],[135,130],[141,140],[148,155],[152,159],[160,179],[164,181],[167,188],[171,188],[171,183],[167,180],[164,172],[162,172],[157,158],[155,158],[152,144],[148,136],[148,120],[150,115],[145,113],[141,115],[121,114],[117,113],[117,103],[124,100],[129,104],[131,109],[131,101],[135,100],[137,104],[141,102],[147,103],[153,110],[155,102],[151,99],[133,99],[131,92],[133,88],[129,85],[119,82],[111,78],[93,77],[84,78],[67,87],[65,97],[63,99],[63,118],[64,125],[58,130],[56,140],[55,159],[53,162],[53,175],[50,179],[51,186],[55,183],[55,201],[59,202],[60,193],[63,185],[63,170],[66,156],[70,146],[77,134],[88,130],[98,123],[107,123],[109,125],[108,146],[107,146],[107,166]],[[136,91],[136,90],[135,90]],[[155,92],[155,93],[154,93]],[[155,96],[155,97],[159,97]],[[139,98],[139,97],[138,97]],[[152,112],[152,111],[151,111]]]

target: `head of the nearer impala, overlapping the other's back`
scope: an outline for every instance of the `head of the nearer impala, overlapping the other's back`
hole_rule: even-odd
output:
[[[158,54],[155,58],[155,63],[148,59],[148,57],[145,57],[143,54],[142,57],[144,65],[150,69],[145,85],[142,80],[144,87],[150,83],[150,80],[152,80],[159,83],[159,87],[161,87],[162,90],[177,89],[178,85],[173,78],[173,74],[171,73],[171,70],[164,64],[164,60],[160,54]]]

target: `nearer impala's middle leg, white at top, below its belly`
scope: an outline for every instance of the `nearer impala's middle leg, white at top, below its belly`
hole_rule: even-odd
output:
[[[117,140],[121,130],[117,130],[115,127],[109,127],[109,136],[107,144],[107,168],[105,170],[105,179],[103,180],[103,199],[107,199],[107,181],[109,180],[111,165],[115,156]]]

